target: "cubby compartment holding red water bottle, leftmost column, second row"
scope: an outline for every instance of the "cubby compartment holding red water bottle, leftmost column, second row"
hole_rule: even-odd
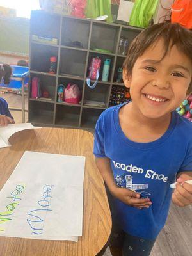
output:
[[[38,72],[49,72],[50,58],[58,60],[58,48],[50,45],[31,44],[30,69]]]

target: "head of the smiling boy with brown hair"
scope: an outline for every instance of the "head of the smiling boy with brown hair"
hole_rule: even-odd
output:
[[[136,113],[165,117],[192,90],[192,31],[179,24],[156,24],[131,43],[124,84]]]

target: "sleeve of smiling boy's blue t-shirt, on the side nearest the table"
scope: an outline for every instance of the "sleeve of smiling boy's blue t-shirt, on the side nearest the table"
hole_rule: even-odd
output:
[[[104,121],[103,115],[100,115],[95,126],[94,148],[95,157],[106,157],[104,150]]]

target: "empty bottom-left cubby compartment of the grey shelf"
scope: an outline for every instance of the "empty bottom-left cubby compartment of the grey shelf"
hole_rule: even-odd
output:
[[[29,100],[29,122],[53,125],[54,104]]]

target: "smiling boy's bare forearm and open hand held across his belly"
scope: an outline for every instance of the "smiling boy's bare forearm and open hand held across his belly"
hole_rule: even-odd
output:
[[[127,188],[119,188],[113,179],[110,160],[107,157],[96,157],[97,168],[106,182],[111,195],[115,196],[125,204],[138,209],[148,208],[152,203],[149,198],[141,199],[140,194]]]

